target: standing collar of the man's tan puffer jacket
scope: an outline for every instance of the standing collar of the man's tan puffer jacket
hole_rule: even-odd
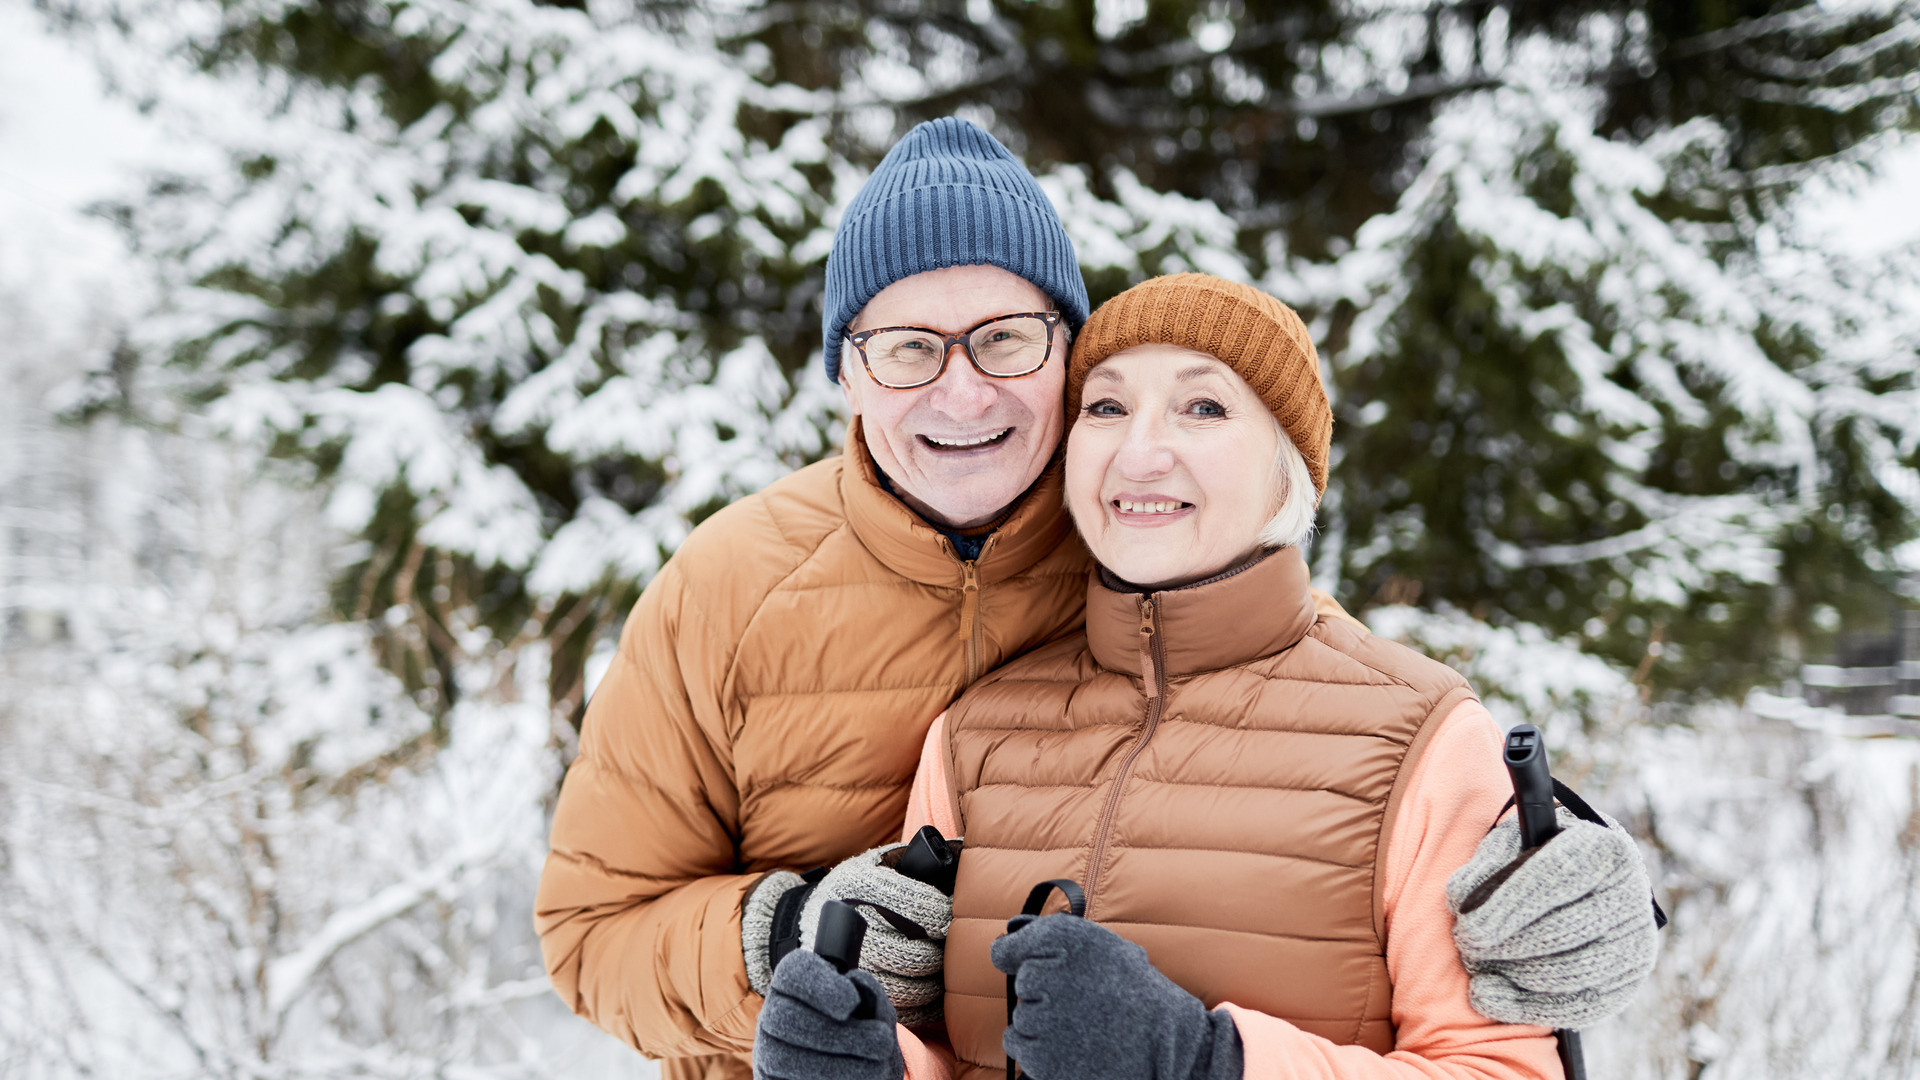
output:
[[[847,425],[841,498],[847,503],[847,525],[887,569],[920,584],[962,588],[966,573],[948,540],[879,484],[879,467],[866,448],[860,417]],[[1056,452],[1041,479],[1020,498],[1014,513],[987,538],[975,565],[979,582],[996,584],[1031,569],[1071,530],[1073,523],[1068,521],[1062,502],[1062,459]]]

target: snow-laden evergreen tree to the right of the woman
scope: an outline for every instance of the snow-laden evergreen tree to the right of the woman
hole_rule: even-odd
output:
[[[1540,75],[1442,110],[1396,211],[1304,275],[1340,402],[1317,565],[1647,686],[1789,676],[1885,617],[1920,525],[1920,261],[1799,248],[1745,211],[1791,181],[1718,121],[1605,138]]]

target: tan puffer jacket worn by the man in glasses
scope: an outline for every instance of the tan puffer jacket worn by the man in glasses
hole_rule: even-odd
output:
[[[701,523],[647,586],[555,807],[547,972],[668,1080],[749,1074],[758,874],[893,840],[933,717],[1081,626],[1092,559],[1058,463],[962,563],[879,486],[858,421],[847,446]]]

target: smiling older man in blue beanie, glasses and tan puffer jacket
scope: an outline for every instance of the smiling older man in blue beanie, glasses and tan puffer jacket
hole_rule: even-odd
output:
[[[916,127],[849,206],[824,307],[845,454],[716,513],[647,586],[540,882],[555,988],[670,1078],[749,1074],[824,896],[929,924],[876,924],[862,967],[904,1020],[937,1015],[939,897],[870,849],[933,717],[1083,621],[1056,450],[1087,286],[1025,167],[966,121]]]

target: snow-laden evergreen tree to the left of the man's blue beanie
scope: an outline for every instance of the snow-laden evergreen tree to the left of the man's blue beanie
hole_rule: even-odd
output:
[[[58,6],[217,148],[125,208],[169,277],[142,356],[311,465],[365,538],[336,605],[407,640],[545,640],[553,698],[703,515],[828,448],[810,269],[824,100],[722,50],[751,13],[524,0]]]

